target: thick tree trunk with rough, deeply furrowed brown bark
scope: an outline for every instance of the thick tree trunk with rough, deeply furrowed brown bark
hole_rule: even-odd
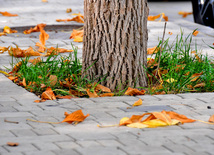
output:
[[[85,0],[84,15],[83,76],[107,76],[111,90],[146,86],[147,0]]]

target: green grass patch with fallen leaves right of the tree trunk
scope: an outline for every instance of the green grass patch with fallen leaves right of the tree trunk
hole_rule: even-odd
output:
[[[154,77],[157,67],[153,64],[147,70],[153,78],[149,80],[149,93],[155,92],[169,93],[184,93],[184,92],[213,92],[214,91],[214,63],[207,55],[201,55],[197,51],[197,46],[192,50],[190,45],[192,43],[192,34],[184,37],[183,33],[177,36],[173,45],[169,45],[169,39],[163,43],[162,52],[154,56],[155,62],[160,58],[159,73],[165,71],[166,73]],[[158,47],[161,46],[161,42]],[[192,53],[195,51],[195,53]],[[153,73],[153,74],[152,74]],[[197,80],[194,80],[194,75],[198,75]],[[170,80],[172,79],[172,80]],[[168,80],[168,82],[167,82]],[[197,84],[202,84],[199,87]],[[161,89],[152,90],[154,84],[161,84]]]

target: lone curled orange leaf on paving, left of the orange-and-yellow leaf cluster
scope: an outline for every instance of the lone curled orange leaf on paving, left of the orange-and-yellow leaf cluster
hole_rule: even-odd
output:
[[[82,122],[88,116],[89,116],[89,114],[84,115],[81,109],[77,110],[71,114],[68,114],[67,112],[65,112],[65,119],[62,121],[62,123],[63,122],[67,122],[67,123]]]

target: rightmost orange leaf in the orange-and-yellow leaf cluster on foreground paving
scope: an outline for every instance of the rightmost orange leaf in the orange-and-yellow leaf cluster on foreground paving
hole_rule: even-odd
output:
[[[181,123],[192,123],[196,121],[196,120],[187,118],[185,115],[181,115],[173,111],[166,111],[166,113],[171,117],[171,119],[179,120]]]

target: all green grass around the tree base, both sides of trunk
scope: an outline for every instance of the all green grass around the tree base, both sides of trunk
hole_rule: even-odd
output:
[[[208,56],[199,54],[196,45],[194,50],[191,49],[191,43],[192,34],[184,37],[183,33],[177,36],[172,45],[169,45],[169,39],[164,41],[162,51],[159,50],[157,54],[152,55],[154,63],[147,67],[149,86],[143,88],[147,90],[147,94],[214,91],[214,63]],[[160,49],[161,44],[160,41],[157,49]],[[77,48],[73,47],[73,49],[74,52],[69,56],[51,55],[36,65],[28,62],[29,57],[22,59],[22,65],[19,71],[15,73],[19,77],[16,83],[24,78],[27,85],[34,82],[26,89],[37,95],[40,95],[50,86],[56,95],[69,95],[69,90],[72,89],[85,94],[83,97],[87,97],[86,89],[88,85],[94,83],[95,79],[88,80],[87,76],[82,77],[82,64],[77,58]],[[195,53],[191,53],[192,51]],[[159,58],[160,65],[157,72]],[[194,77],[196,73],[200,74]],[[54,86],[51,85],[49,79],[51,75],[57,76],[57,83]],[[72,81],[70,88],[60,84],[60,82],[66,82],[66,79]],[[46,87],[41,87],[42,84]],[[198,84],[203,86],[199,87]],[[95,86],[92,86],[90,90],[93,92],[94,88]],[[125,91],[126,89],[120,90],[114,94],[121,96],[124,95]]]

